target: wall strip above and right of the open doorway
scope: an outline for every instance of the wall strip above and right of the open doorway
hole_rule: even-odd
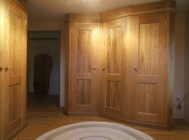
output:
[[[28,31],[60,31],[60,107],[64,107],[65,83],[65,24],[62,22],[28,22]]]

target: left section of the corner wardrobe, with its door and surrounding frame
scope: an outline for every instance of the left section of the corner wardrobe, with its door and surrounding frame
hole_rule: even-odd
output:
[[[66,105],[69,115],[97,115],[97,53],[99,23],[66,23]],[[77,15],[79,16],[79,15]],[[85,15],[88,16],[87,14]],[[98,18],[98,14],[92,15]]]

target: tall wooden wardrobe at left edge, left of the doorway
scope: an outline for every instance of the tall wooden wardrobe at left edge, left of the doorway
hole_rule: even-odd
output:
[[[3,0],[1,137],[12,139],[26,125],[27,8]]]

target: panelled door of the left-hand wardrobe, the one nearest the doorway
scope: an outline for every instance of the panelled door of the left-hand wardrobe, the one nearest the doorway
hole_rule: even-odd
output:
[[[4,136],[14,136],[26,125],[26,40],[27,14],[15,3],[7,8],[9,15],[7,26],[6,75],[7,91],[5,95]]]

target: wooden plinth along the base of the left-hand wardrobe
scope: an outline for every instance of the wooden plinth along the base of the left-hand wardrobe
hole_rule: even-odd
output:
[[[26,128],[27,125],[28,125],[27,122],[23,123],[15,130],[13,130],[11,133],[9,133],[9,135],[6,136],[4,140],[12,140],[18,133],[20,133],[24,128]]]

